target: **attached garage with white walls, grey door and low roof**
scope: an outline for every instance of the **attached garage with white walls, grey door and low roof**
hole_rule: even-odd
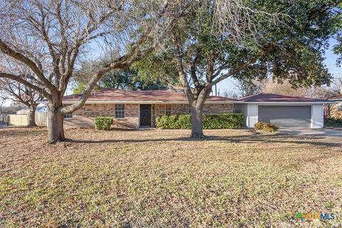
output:
[[[301,98],[274,93],[259,93],[239,99],[237,111],[244,114],[247,128],[257,122],[280,128],[323,128],[323,104],[328,100]]]

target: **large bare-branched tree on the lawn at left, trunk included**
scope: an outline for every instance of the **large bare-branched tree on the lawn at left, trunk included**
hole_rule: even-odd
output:
[[[0,78],[9,78],[48,100],[48,135],[65,140],[63,118],[81,108],[98,80],[128,68],[160,43],[187,1],[0,1]],[[93,73],[81,100],[63,106],[63,95],[81,59],[115,57]],[[11,66],[21,64],[33,77]],[[0,65],[0,67],[1,67]]]

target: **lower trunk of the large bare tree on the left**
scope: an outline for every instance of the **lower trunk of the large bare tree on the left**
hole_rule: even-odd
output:
[[[51,143],[66,140],[63,128],[64,114],[61,108],[48,109],[48,140]]]

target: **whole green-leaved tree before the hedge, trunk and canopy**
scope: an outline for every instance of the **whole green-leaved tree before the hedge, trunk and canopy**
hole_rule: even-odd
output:
[[[271,76],[294,88],[329,83],[322,53],[334,8],[336,1],[196,1],[172,24],[164,53],[149,62],[177,69],[191,107],[191,137],[202,138],[204,101],[226,78]]]

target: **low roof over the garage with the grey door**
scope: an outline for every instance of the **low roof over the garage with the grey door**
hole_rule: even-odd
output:
[[[290,95],[281,95],[275,93],[259,93],[257,95],[249,95],[239,100],[244,103],[328,103],[326,100],[315,98],[302,98]]]

